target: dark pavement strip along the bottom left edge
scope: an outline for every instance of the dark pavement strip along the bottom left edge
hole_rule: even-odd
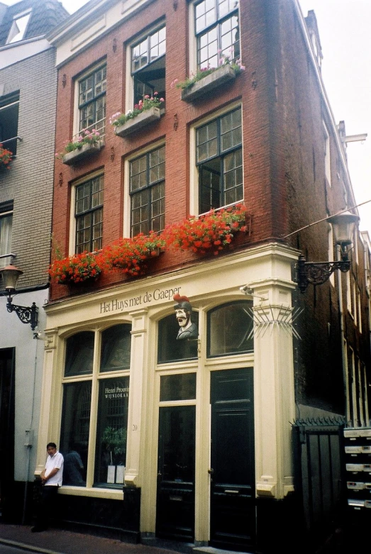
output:
[[[0,522],[0,553],[1,544],[43,554],[179,554],[175,550],[124,543],[57,528],[32,533],[31,526]]]

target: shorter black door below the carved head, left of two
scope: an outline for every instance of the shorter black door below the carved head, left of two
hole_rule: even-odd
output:
[[[195,406],[160,408],[156,535],[194,538]]]

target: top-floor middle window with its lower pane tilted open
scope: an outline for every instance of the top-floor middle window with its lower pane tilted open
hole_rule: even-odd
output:
[[[148,94],[165,96],[165,25],[145,35],[131,47],[133,106]],[[131,106],[131,108],[133,107]]]

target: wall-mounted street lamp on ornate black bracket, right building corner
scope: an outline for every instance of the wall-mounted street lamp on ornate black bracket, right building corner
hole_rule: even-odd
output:
[[[333,226],[335,242],[340,246],[341,260],[336,262],[306,262],[303,255],[295,265],[297,272],[297,284],[301,292],[306,291],[309,283],[323,284],[328,277],[335,271],[347,272],[350,270],[349,251],[352,248],[355,226],[360,218],[351,214],[350,211],[344,211],[342,214],[326,218],[328,223]]]

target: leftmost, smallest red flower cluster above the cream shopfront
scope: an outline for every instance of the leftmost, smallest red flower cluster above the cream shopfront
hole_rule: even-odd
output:
[[[83,252],[54,260],[49,275],[59,284],[82,284],[94,282],[101,274],[101,267],[92,253]]]

